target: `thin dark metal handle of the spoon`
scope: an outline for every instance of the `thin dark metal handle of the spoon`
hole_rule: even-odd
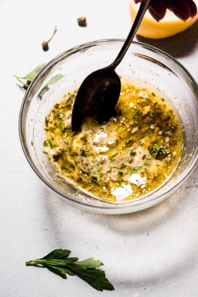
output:
[[[136,18],[134,20],[133,26],[131,28],[131,31],[129,32],[129,35],[127,36],[120,52],[118,53],[118,56],[115,58],[115,60],[113,61],[113,63],[109,66],[111,69],[115,69],[120,62],[122,61],[124,55],[126,54],[136,32],[137,29],[140,26],[140,23],[142,21],[143,16],[145,15],[145,12],[150,4],[151,0],[144,0],[141,5],[140,5],[140,9],[138,10],[138,13],[136,15]]]

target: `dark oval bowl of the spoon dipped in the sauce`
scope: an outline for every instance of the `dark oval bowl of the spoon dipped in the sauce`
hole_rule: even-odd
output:
[[[106,121],[109,115],[114,113],[120,91],[120,78],[110,67],[96,70],[88,75],[81,84],[74,102],[73,131],[80,131],[85,118],[91,117],[99,123]]]

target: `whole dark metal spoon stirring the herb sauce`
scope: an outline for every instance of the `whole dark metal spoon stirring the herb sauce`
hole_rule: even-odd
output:
[[[94,118],[102,123],[113,116],[121,91],[121,81],[115,68],[126,54],[150,1],[144,0],[141,3],[131,31],[115,61],[107,67],[92,72],[81,84],[72,110],[73,131],[79,132],[86,118]]]

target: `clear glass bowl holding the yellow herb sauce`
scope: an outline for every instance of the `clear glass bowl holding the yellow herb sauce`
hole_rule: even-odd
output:
[[[105,214],[123,214],[153,206],[178,189],[197,162],[198,86],[189,72],[166,53],[132,42],[116,72],[123,78],[140,80],[170,98],[183,121],[186,147],[179,166],[169,180],[146,197],[115,204],[86,195],[61,181],[47,155],[43,154],[45,115],[64,94],[77,89],[92,71],[109,65],[124,40],[99,40],[61,53],[38,73],[24,96],[19,133],[24,154],[42,181],[59,197],[75,206]],[[33,146],[32,143],[33,142]],[[44,161],[44,162],[43,162]]]

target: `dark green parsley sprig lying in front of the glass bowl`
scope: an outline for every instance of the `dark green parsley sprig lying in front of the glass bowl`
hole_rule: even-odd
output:
[[[43,258],[27,261],[26,265],[40,263],[59,275],[77,275],[98,291],[114,290],[113,285],[105,277],[104,271],[95,269],[104,265],[102,262],[94,258],[77,261],[77,257],[68,257],[70,252],[67,249],[55,249]]]

